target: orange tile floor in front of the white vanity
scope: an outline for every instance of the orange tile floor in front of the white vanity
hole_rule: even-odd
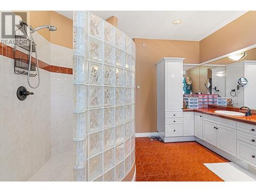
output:
[[[136,181],[223,181],[203,163],[229,162],[201,144],[136,138]]]

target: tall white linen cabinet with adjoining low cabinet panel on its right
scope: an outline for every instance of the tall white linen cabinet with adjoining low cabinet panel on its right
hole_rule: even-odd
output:
[[[194,112],[186,112],[183,117],[182,111],[183,60],[164,57],[157,62],[157,131],[164,142],[190,141],[195,138]]]

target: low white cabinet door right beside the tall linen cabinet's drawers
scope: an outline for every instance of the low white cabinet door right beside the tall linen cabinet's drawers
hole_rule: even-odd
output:
[[[183,136],[194,136],[194,112],[183,113]]]

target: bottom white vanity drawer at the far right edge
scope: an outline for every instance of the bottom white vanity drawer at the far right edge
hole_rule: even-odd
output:
[[[237,158],[256,166],[256,146],[237,140]]]

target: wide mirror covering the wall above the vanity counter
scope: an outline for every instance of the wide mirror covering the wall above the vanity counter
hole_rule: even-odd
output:
[[[228,106],[256,109],[256,48],[213,60],[183,66],[183,93],[218,94]]]

